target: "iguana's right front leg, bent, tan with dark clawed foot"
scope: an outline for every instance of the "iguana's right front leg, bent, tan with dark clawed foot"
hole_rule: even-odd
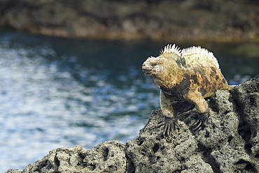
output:
[[[193,124],[193,130],[197,130],[207,123],[209,117],[209,105],[198,91],[189,91],[186,94],[186,100],[195,104],[196,110],[199,113],[198,120]]]

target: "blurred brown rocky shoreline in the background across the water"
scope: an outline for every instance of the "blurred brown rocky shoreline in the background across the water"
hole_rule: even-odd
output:
[[[258,41],[258,1],[6,0],[0,26],[47,36]]]

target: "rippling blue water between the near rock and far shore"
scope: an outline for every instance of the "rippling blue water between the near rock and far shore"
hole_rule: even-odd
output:
[[[0,172],[23,170],[59,147],[90,149],[105,140],[135,137],[159,108],[159,89],[141,64],[165,45],[31,36],[0,28]],[[256,44],[252,51],[246,44],[202,46],[218,57],[230,84],[259,73]]]

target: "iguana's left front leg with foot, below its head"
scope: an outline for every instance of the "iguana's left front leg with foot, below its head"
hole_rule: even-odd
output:
[[[165,116],[164,122],[160,124],[165,124],[163,135],[169,136],[170,133],[174,131],[175,126],[179,125],[177,124],[176,117],[174,116],[172,99],[168,98],[162,90],[160,90],[160,108],[162,110],[162,114]]]

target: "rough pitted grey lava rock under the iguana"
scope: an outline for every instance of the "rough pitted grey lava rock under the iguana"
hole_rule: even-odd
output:
[[[163,117],[154,110],[126,144],[113,140],[92,149],[55,149],[22,172],[259,172],[259,75],[217,91],[207,102],[209,123],[200,131],[190,128],[194,105],[176,101],[180,127],[171,139],[162,136],[157,125]]]

